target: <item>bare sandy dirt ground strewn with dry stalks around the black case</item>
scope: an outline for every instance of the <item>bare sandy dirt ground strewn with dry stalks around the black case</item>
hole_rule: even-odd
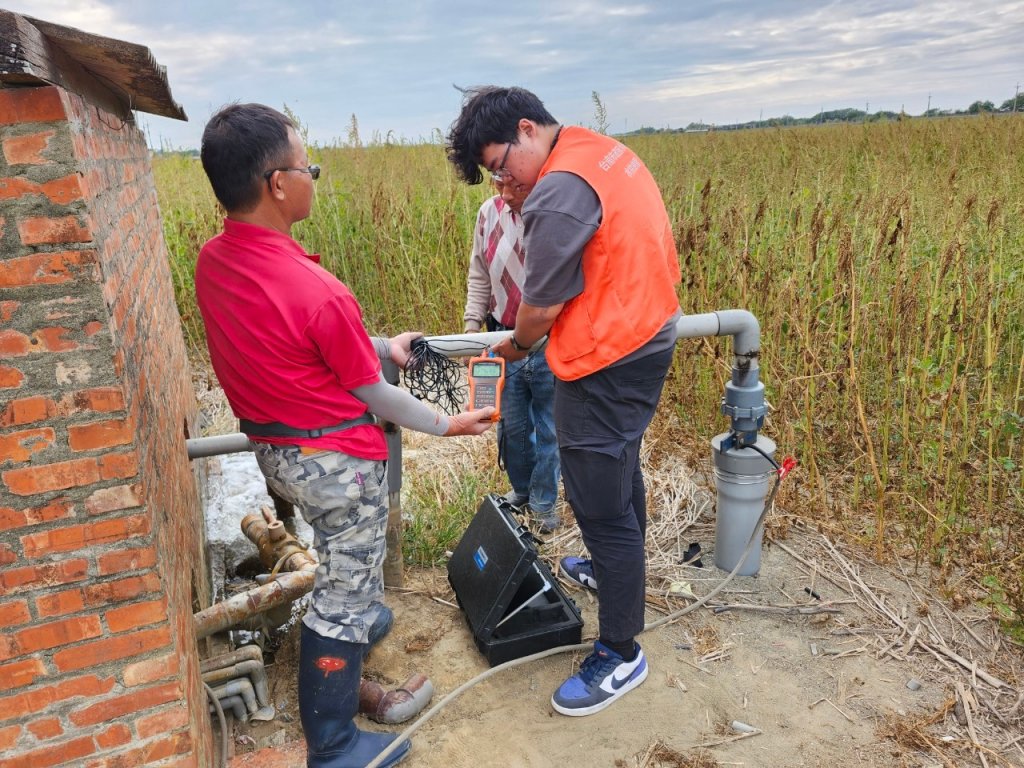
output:
[[[714,541],[713,529],[700,524],[689,534]],[[858,563],[865,586],[892,607],[897,621],[916,629],[916,635],[913,629],[901,632],[879,611],[865,609],[852,581],[825,567],[819,539],[791,530],[781,546],[765,547],[757,577],[734,579],[715,602],[837,612],[699,608],[643,634],[647,681],[587,718],[562,717],[550,705],[552,691],[574,671],[580,654],[502,671],[419,727],[406,764],[1024,766],[1021,649],[1000,642],[986,617],[953,614],[923,586]],[[549,549],[559,549],[557,540],[542,547],[542,556]],[[689,570],[697,595],[726,575],[710,563]],[[585,640],[593,638],[592,593],[566,590],[584,615]],[[404,587],[388,590],[387,598],[395,626],[365,674],[393,686],[422,671],[433,681],[436,703],[487,672],[443,569],[407,571]],[[689,602],[652,597],[648,623]],[[947,636],[940,639],[943,633]],[[239,752],[301,738],[296,634],[269,668],[278,719],[250,727],[239,739]],[[946,650],[973,659],[968,667],[974,670],[951,660]],[[1006,687],[984,682],[986,675]],[[736,721],[756,732],[737,731]],[[382,728],[369,721],[360,727]]]

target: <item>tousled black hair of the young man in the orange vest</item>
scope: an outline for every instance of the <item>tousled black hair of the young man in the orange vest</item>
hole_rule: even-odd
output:
[[[444,148],[456,173],[471,184],[483,180],[483,147],[515,141],[522,118],[538,125],[558,122],[541,99],[524,88],[481,85],[460,90],[464,94],[462,112],[449,129]]]

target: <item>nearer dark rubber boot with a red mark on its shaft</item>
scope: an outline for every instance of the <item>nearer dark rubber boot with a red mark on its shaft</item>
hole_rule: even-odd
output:
[[[352,718],[359,709],[362,643],[321,637],[305,625],[299,646],[299,718],[306,737],[307,768],[366,768],[396,736],[360,731]],[[381,768],[409,754],[401,742]]]

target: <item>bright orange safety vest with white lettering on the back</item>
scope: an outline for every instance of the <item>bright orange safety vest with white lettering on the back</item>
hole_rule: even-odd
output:
[[[574,381],[654,338],[679,308],[679,257],[657,183],[625,144],[562,128],[538,180],[552,171],[580,176],[601,201],[601,224],[583,252],[583,293],[549,332],[548,365]]]

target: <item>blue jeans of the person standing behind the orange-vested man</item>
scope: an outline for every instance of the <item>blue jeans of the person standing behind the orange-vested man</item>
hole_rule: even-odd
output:
[[[516,496],[544,515],[555,508],[560,476],[555,437],[555,376],[544,352],[509,362],[502,392],[498,440]]]

